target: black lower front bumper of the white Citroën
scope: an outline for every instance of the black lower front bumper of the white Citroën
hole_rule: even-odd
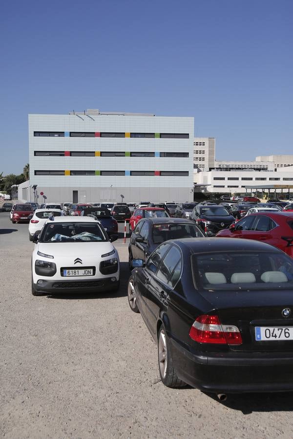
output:
[[[117,273],[113,275],[117,279]],[[111,278],[105,279],[66,279],[66,280],[42,280],[42,285],[35,283],[34,288],[40,293],[96,293],[100,291],[116,290],[119,286],[119,280],[112,281]]]

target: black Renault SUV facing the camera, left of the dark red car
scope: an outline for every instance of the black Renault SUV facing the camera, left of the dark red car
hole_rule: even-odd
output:
[[[235,218],[223,206],[197,205],[189,220],[195,221],[202,230],[206,230],[207,236],[214,236],[219,230],[229,227]]]

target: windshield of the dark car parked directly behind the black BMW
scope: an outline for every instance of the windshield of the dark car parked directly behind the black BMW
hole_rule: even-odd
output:
[[[193,224],[154,224],[152,230],[154,244],[168,239],[204,238],[204,234]]]

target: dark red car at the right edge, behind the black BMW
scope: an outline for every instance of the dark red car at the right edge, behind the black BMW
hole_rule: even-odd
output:
[[[255,239],[283,250],[293,258],[293,214],[290,212],[263,212],[244,217],[221,230],[217,238]]]

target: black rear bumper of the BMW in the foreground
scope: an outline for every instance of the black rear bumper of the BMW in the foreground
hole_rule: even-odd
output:
[[[177,375],[205,392],[249,393],[293,391],[293,353],[191,353],[171,339]]]

